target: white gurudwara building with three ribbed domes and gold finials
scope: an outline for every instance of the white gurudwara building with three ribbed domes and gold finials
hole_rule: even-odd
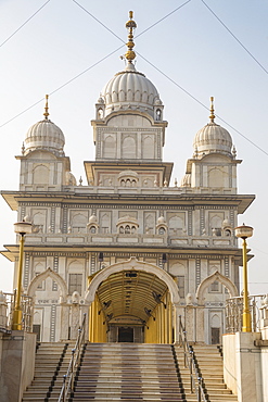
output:
[[[23,291],[34,298],[41,341],[74,339],[88,313],[92,342],[171,343],[181,316],[190,340],[218,343],[225,301],[239,294],[242,256],[233,228],[254,200],[237,191],[241,160],[215,122],[212,99],[186,175],[170,184],[173,163],[162,158],[164,103],[135,66],[135,26],[130,17],[126,67],[95,103],[87,185],[71,172],[47,102],[16,156],[20,189],[2,192],[18,221],[33,224]],[[16,284],[18,243],[2,254],[15,263]]]

